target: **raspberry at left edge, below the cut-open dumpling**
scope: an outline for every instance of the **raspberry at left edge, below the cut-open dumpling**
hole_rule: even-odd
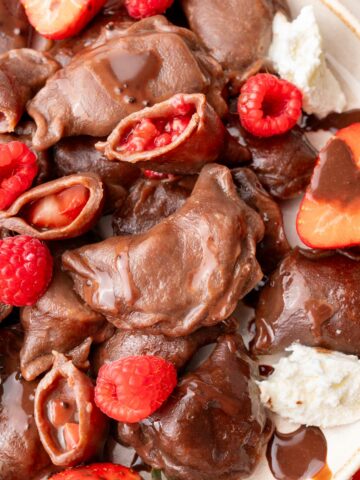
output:
[[[0,240],[0,302],[33,305],[47,289],[52,267],[49,249],[40,240],[28,235]]]

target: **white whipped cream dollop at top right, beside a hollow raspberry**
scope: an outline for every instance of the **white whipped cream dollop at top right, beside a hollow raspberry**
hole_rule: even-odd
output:
[[[304,7],[293,22],[281,12],[275,15],[269,57],[280,77],[301,90],[305,112],[323,118],[344,111],[346,98],[327,66],[312,6]]]

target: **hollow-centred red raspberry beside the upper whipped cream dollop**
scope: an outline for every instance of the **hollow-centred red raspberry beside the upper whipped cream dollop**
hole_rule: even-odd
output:
[[[290,82],[268,73],[250,77],[241,88],[238,112],[243,127],[257,137],[290,130],[301,115],[302,93]]]

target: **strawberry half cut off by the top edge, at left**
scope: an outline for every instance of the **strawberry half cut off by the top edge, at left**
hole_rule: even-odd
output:
[[[62,40],[79,33],[106,0],[21,0],[29,22],[41,35]]]

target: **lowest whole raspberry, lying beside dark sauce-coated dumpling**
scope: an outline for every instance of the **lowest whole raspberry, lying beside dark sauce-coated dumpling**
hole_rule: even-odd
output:
[[[95,403],[108,417],[135,423],[154,413],[176,383],[174,365],[161,357],[121,358],[100,368]]]

